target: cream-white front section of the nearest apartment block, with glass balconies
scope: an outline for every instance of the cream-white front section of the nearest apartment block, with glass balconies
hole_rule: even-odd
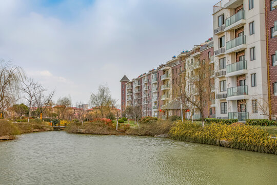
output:
[[[217,118],[266,118],[268,100],[265,2],[223,0],[214,5]]]

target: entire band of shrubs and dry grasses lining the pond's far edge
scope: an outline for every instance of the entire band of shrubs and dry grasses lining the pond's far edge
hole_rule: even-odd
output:
[[[0,120],[0,137],[52,130],[53,128],[48,126],[47,122],[37,120],[31,123],[12,123]],[[116,121],[98,118],[84,123],[72,121],[65,131],[74,134],[169,137],[187,142],[277,154],[277,126],[256,126],[239,122],[231,124],[209,122],[203,127],[201,122],[197,121],[192,123],[190,120],[182,122],[144,117],[136,124],[134,121],[128,120],[118,123],[116,131]]]

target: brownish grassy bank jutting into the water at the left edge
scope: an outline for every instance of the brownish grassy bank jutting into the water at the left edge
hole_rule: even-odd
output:
[[[42,121],[13,123],[7,120],[0,120],[0,141],[15,139],[15,136],[20,134],[45,131],[53,131],[53,128]]]

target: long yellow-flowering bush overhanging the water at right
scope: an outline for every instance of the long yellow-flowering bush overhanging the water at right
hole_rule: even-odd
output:
[[[277,139],[270,138],[264,129],[244,124],[211,124],[202,127],[176,121],[169,136],[176,140],[213,145],[220,145],[220,141],[224,140],[233,149],[277,154]]]

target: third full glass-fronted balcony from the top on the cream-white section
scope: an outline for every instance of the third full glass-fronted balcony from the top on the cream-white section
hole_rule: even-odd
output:
[[[233,77],[237,75],[243,75],[247,73],[247,62],[240,61],[227,65],[226,77]]]

